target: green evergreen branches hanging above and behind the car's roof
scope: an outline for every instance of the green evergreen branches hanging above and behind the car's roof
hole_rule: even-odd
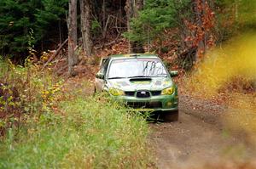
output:
[[[148,0],[139,17],[131,21],[131,32],[126,32],[125,37],[131,41],[147,42],[155,38],[162,38],[168,28],[179,24],[184,13],[181,10],[189,5],[189,0]],[[189,14],[187,11],[186,14]]]

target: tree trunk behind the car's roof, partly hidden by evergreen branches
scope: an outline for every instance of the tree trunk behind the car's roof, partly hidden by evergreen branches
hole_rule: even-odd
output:
[[[127,17],[127,31],[131,31],[131,19],[138,17],[139,10],[143,9],[143,0],[126,0],[125,12]],[[144,53],[142,42],[129,42],[130,53]]]

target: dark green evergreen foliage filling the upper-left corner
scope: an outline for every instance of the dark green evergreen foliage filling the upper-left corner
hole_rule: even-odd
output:
[[[38,44],[56,22],[65,18],[67,0],[1,0],[0,1],[0,54],[27,54],[29,31],[34,30]]]

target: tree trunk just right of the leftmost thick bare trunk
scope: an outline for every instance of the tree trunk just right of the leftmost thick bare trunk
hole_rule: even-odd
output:
[[[91,1],[80,0],[81,8],[81,32],[83,38],[84,53],[90,56],[93,52],[91,41]]]

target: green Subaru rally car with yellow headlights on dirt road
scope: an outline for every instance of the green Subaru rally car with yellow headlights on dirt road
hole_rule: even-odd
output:
[[[119,54],[102,59],[96,74],[95,92],[107,91],[135,109],[159,111],[177,121],[177,71],[168,72],[155,54]]]

